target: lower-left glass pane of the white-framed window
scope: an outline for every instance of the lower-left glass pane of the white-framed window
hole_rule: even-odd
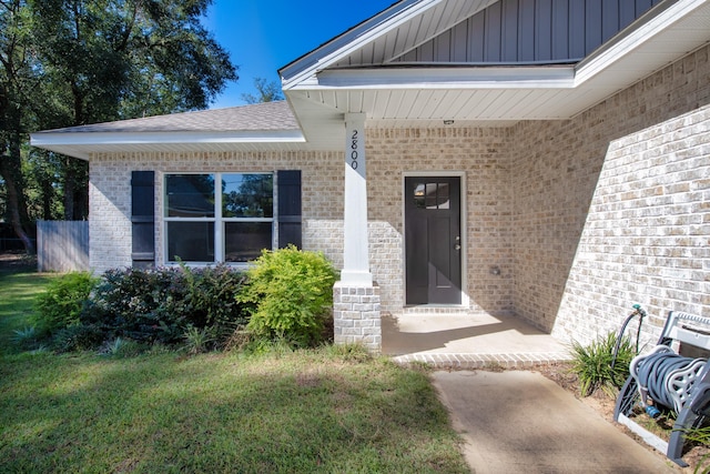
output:
[[[214,262],[214,222],[168,222],[168,260]]]

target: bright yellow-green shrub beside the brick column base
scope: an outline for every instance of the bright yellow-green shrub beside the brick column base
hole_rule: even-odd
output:
[[[293,245],[264,251],[247,271],[248,283],[239,296],[251,312],[247,329],[297,346],[317,344],[331,316],[336,276],[321,252]]]

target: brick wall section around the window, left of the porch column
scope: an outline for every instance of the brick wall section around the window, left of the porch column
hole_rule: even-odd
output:
[[[342,262],[343,164],[338,153],[111,153],[90,162],[90,265],[95,272],[131,265],[131,171],[155,174],[155,250],[162,244],[163,173],[302,170],[303,246]]]

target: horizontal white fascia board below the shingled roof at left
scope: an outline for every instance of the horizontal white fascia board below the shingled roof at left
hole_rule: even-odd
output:
[[[40,132],[30,144],[52,145],[166,144],[166,143],[305,143],[301,130],[234,132]]]

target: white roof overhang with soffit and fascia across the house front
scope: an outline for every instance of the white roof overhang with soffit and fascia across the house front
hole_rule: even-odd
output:
[[[389,54],[404,52],[430,38],[433,24],[450,28],[494,1],[402,0],[282,68],[287,104],[196,112],[204,122],[194,129],[180,128],[191,115],[178,114],[155,118],[166,128],[89,125],[33,133],[31,143],[82,159],[102,152],[341,150],[346,113],[365,113],[368,128],[567,120],[710,41],[710,0],[665,0],[577,63],[337,65],[373,41],[394,44]],[[393,42],[399,28],[416,30],[407,36],[412,44]],[[220,113],[236,114],[232,125],[239,127],[215,128]]]

